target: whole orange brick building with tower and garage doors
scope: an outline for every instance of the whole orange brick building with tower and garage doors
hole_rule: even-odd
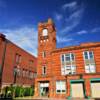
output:
[[[39,23],[35,96],[100,98],[100,42],[56,48],[52,20]]]

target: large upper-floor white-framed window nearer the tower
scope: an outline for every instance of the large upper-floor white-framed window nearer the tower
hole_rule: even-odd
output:
[[[73,53],[67,53],[61,55],[61,74],[75,74],[75,55]]]

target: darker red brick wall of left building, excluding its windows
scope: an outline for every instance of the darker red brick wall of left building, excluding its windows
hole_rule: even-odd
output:
[[[2,38],[0,38],[2,39]],[[29,78],[27,76],[23,76],[23,70],[26,72],[36,73],[37,67],[37,58],[33,55],[29,54],[25,50],[21,49],[11,41],[5,39],[7,41],[4,66],[3,66],[3,74],[2,74],[2,85],[10,85],[14,83],[14,67],[18,66],[20,69],[20,75],[16,76],[16,84],[19,85],[33,85],[34,78]],[[2,62],[2,56],[4,51],[5,41],[0,42],[0,64]],[[19,64],[16,64],[16,54],[21,55],[21,61]],[[30,65],[30,61],[33,63]],[[25,74],[26,75],[26,74]]]

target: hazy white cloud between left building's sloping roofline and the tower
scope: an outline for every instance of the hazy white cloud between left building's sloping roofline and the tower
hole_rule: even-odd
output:
[[[0,29],[0,32],[21,48],[37,56],[37,31],[33,27]]]

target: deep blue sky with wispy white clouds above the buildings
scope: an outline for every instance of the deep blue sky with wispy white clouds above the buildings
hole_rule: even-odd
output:
[[[100,42],[100,0],[0,0],[0,32],[37,55],[37,25],[52,18],[57,47]]]

